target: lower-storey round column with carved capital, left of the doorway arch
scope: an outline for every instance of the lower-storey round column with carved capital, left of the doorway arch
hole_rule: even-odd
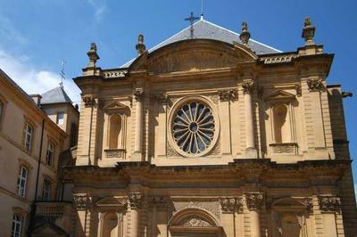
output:
[[[129,203],[131,209],[131,237],[140,237],[140,208],[142,204],[142,196],[139,192],[132,192],[129,194]]]

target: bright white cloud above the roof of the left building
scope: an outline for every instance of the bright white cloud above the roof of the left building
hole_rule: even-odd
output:
[[[0,68],[9,75],[28,94],[43,94],[59,86],[61,78],[58,73],[37,69],[26,55],[12,56],[0,48]],[[80,90],[72,80],[64,80],[64,90],[73,102],[80,101]]]

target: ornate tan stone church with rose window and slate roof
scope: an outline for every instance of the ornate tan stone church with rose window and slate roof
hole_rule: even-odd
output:
[[[305,19],[304,45],[281,52],[246,23],[237,34],[201,17],[150,50],[140,35],[116,69],[97,66],[92,44],[74,78],[75,164],[61,172],[74,205],[57,225],[101,237],[356,236],[348,94],[327,84],[334,54],[314,32]]]

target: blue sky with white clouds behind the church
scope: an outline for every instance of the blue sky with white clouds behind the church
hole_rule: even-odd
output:
[[[136,56],[137,35],[150,48],[187,27],[189,12],[199,15],[201,0],[0,0],[0,68],[28,93],[43,93],[59,83],[65,60],[65,89],[79,101],[71,78],[87,65],[91,42],[98,46],[102,68],[115,68]],[[303,18],[316,26],[315,42],[336,53],[329,84],[357,92],[355,0],[204,0],[204,19],[240,31],[247,21],[253,39],[282,51],[303,45]],[[352,158],[357,155],[356,96],[347,98],[345,117]],[[353,163],[357,181],[357,163]]]

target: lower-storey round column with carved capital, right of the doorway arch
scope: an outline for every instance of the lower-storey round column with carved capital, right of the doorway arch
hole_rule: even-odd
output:
[[[251,236],[261,237],[261,221],[260,221],[260,208],[262,207],[264,197],[261,192],[245,193],[245,202],[249,208]]]

